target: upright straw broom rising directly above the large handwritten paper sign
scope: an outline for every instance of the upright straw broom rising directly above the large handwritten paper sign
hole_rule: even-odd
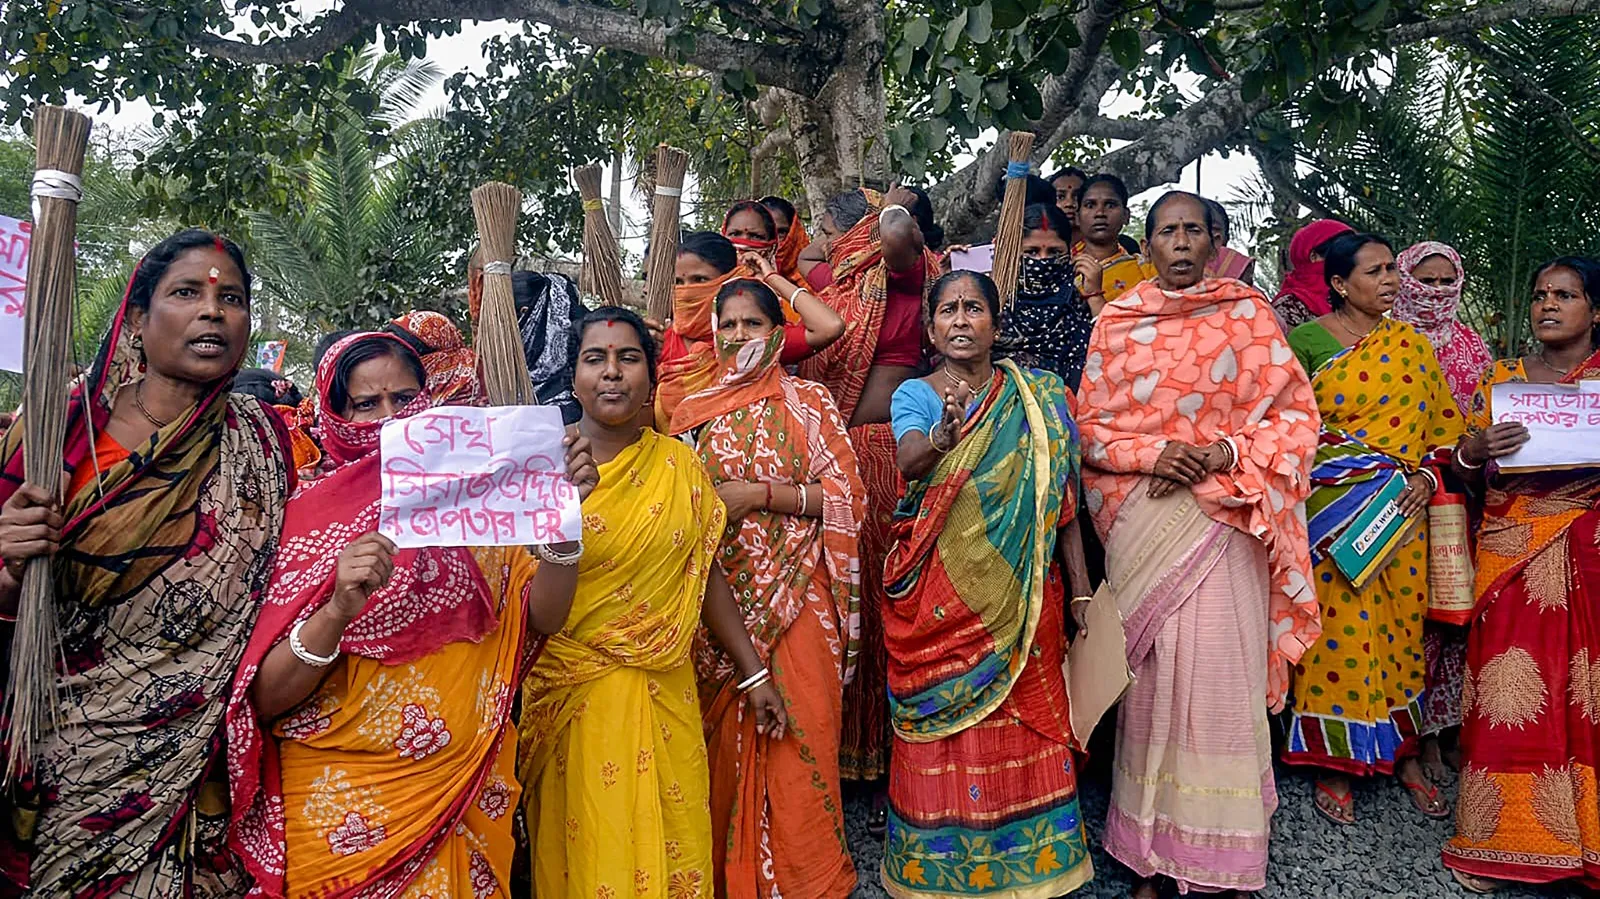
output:
[[[472,190],[472,216],[478,221],[483,254],[483,307],[474,349],[483,374],[483,392],[493,406],[533,405],[533,381],[517,328],[517,301],[510,293],[510,262],[517,256],[517,214],[522,192],[490,181]]]

